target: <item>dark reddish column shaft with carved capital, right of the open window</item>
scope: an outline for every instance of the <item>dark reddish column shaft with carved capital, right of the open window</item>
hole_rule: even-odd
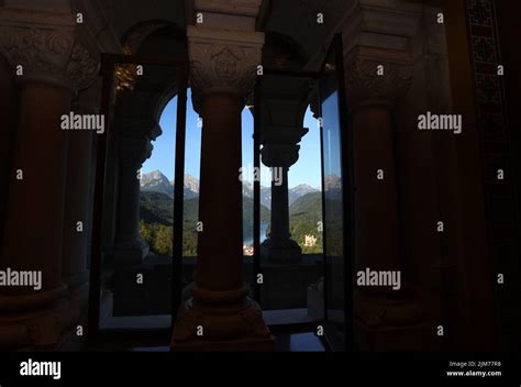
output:
[[[374,269],[400,266],[392,108],[409,88],[411,75],[406,56],[388,54],[358,47],[345,63],[355,132],[358,263]],[[383,77],[376,73],[379,65],[385,66]]]

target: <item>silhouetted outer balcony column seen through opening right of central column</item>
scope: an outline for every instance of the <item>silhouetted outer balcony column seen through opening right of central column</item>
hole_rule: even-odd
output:
[[[302,258],[302,250],[289,233],[288,170],[297,163],[300,150],[297,144],[308,131],[301,126],[264,126],[262,130],[263,164],[281,172],[280,181],[271,179],[270,233],[260,246],[263,256],[273,263],[298,263]]]

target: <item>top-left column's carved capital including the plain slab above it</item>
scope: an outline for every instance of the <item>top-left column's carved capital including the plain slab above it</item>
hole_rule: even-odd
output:
[[[96,81],[99,53],[73,14],[4,8],[0,24],[0,53],[13,68],[22,66],[22,82],[48,82],[77,92]]]

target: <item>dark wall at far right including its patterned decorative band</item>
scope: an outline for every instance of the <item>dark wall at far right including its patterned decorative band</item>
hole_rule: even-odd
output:
[[[498,9],[497,18],[495,8]],[[501,0],[451,0],[446,1],[445,9],[454,109],[464,114],[466,128],[457,142],[462,194],[458,207],[464,235],[458,245],[464,251],[465,261],[473,259],[462,266],[462,275],[466,277],[466,291],[474,291],[474,295],[468,295],[462,307],[469,308],[467,331],[472,335],[481,335],[479,341],[492,339],[490,344],[496,349],[519,349],[521,272],[519,217],[517,222],[514,218],[519,214],[520,200],[513,190],[514,181],[519,183],[519,175],[516,177],[514,173],[514,165],[519,164],[519,133],[516,133],[519,118],[513,117],[519,109],[519,103],[516,104],[519,53],[514,46],[519,27],[513,18],[519,4]],[[503,60],[495,55],[498,49],[496,29],[501,34]],[[483,47],[488,51],[483,51]],[[511,71],[505,79],[497,77],[499,64],[505,65],[506,74]],[[501,93],[501,81],[507,86],[507,96]],[[510,113],[503,106],[510,109]],[[510,129],[505,125],[508,117]],[[503,180],[497,177],[499,168],[506,172]],[[474,211],[467,211],[473,208]],[[499,284],[498,274],[510,279]],[[485,308],[485,305],[490,306],[490,301],[492,310]],[[475,329],[473,321],[477,319],[488,321],[487,327]],[[494,336],[488,333],[492,323]],[[469,345],[472,347],[472,343]]]

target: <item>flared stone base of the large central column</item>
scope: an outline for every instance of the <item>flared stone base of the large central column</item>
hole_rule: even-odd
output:
[[[275,341],[258,305],[246,297],[247,288],[210,291],[192,287],[179,309],[171,351],[274,351]]]

